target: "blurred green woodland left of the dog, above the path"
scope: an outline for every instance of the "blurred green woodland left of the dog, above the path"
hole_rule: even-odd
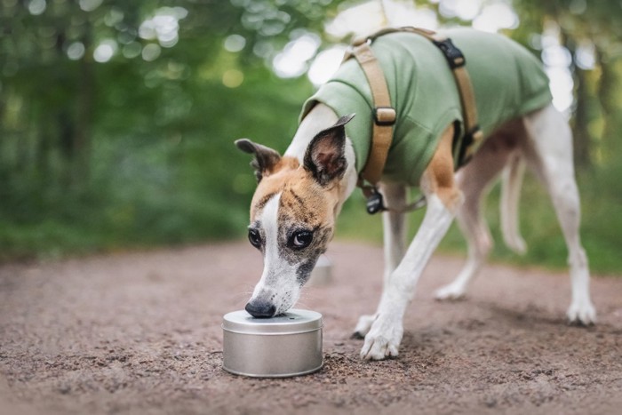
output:
[[[46,223],[113,244],[237,229],[252,181],[232,141],[291,134],[311,86],[269,64],[338,4],[0,1],[0,245]]]

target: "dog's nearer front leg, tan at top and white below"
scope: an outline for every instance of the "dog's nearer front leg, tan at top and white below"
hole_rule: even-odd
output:
[[[398,354],[403,336],[403,315],[419,276],[462,203],[462,195],[453,177],[452,138],[453,128],[450,127],[443,133],[439,148],[424,173],[421,188],[427,195],[426,215],[406,255],[388,279],[376,319],[365,336],[361,350],[364,359],[381,360]]]

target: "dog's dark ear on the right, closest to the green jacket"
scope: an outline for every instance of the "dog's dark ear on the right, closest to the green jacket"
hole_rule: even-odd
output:
[[[333,126],[319,132],[307,148],[304,166],[315,180],[326,186],[346,172],[346,128],[355,114],[342,116]]]

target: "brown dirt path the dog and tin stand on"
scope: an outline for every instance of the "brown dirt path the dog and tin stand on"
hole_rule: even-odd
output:
[[[595,278],[599,325],[570,327],[568,278],[490,266],[469,298],[432,291],[461,260],[435,257],[401,354],[358,358],[381,250],[335,243],[334,281],[298,307],[324,317],[322,371],[247,379],[221,370],[220,320],[261,259],[247,243],[0,267],[0,413],[620,413],[622,278]]]

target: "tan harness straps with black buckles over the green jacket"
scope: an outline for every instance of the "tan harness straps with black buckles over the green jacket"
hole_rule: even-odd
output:
[[[387,162],[388,149],[393,140],[393,125],[397,118],[395,108],[391,106],[387,81],[382,72],[382,68],[380,68],[379,61],[371,51],[370,44],[377,37],[394,32],[411,32],[426,37],[443,52],[450,65],[458,86],[460,105],[462,107],[465,125],[464,139],[459,154],[459,166],[468,162],[471,156],[473,156],[474,150],[481,144],[483,138],[482,132],[477,124],[477,108],[475,107],[471,78],[468,76],[468,72],[466,72],[465,68],[466,60],[462,52],[451,43],[451,39],[439,36],[431,30],[411,27],[387,28],[380,30],[374,35],[355,39],[351,51],[346,54],[344,60],[348,60],[354,56],[358,61],[370,84],[371,98],[374,105],[372,114],[374,123],[370,154],[358,182],[358,186],[363,188],[363,194],[368,198],[378,195],[375,186],[379,182]],[[365,180],[371,183],[372,186],[365,186]],[[381,199],[379,199],[376,204],[379,204],[379,209],[373,209],[373,212],[384,209]],[[420,203],[416,204],[418,206],[420,205]],[[370,211],[369,204],[368,211]]]

